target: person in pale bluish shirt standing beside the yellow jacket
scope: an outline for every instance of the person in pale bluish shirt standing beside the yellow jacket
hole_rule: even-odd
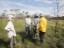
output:
[[[39,22],[39,17],[35,15],[33,20],[33,32],[34,32],[33,39],[34,40],[36,40],[38,22]]]

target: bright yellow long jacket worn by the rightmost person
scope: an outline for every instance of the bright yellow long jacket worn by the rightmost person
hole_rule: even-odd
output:
[[[39,20],[39,31],[46,32],[47,20],[45,17]]]

